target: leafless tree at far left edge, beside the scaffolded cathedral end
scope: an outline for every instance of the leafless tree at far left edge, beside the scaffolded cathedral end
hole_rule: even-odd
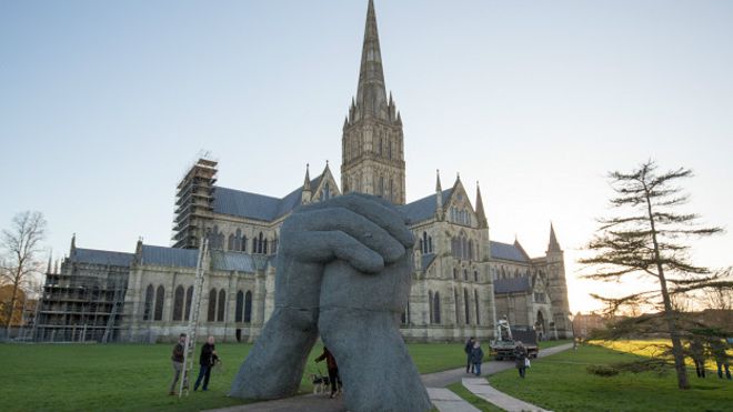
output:
[[[10,332],[12,314],[18,309],[18,294],[31,281],[33,273],[40,273],[42,262],[41,242],[46,238],[46,219],[40,212],[26,211],[16,214],[10,229],[0,234],[2,254],[2,278],[12,285],[10,301],[6,304],[6,328]],[[9,336],[9,334],[8,334]]]

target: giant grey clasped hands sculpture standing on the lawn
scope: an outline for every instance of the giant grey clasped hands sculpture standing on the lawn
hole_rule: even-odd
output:
[[[398,329],[413,243],[404,218],[379,198],[352,193],[297,209],[280,231],[274,311],[230,395],[295,394],[320,333],[339,364],[349,410],[429,410]]]

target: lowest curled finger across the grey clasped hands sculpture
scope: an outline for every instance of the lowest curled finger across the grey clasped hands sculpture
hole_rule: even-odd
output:
[[[295,232],[290,234],[289,244],[298,245],[288,252],[302,261],[328,263],[343,260],[364,273],[378,273],[384,269],[380,253],[342,231]]]

